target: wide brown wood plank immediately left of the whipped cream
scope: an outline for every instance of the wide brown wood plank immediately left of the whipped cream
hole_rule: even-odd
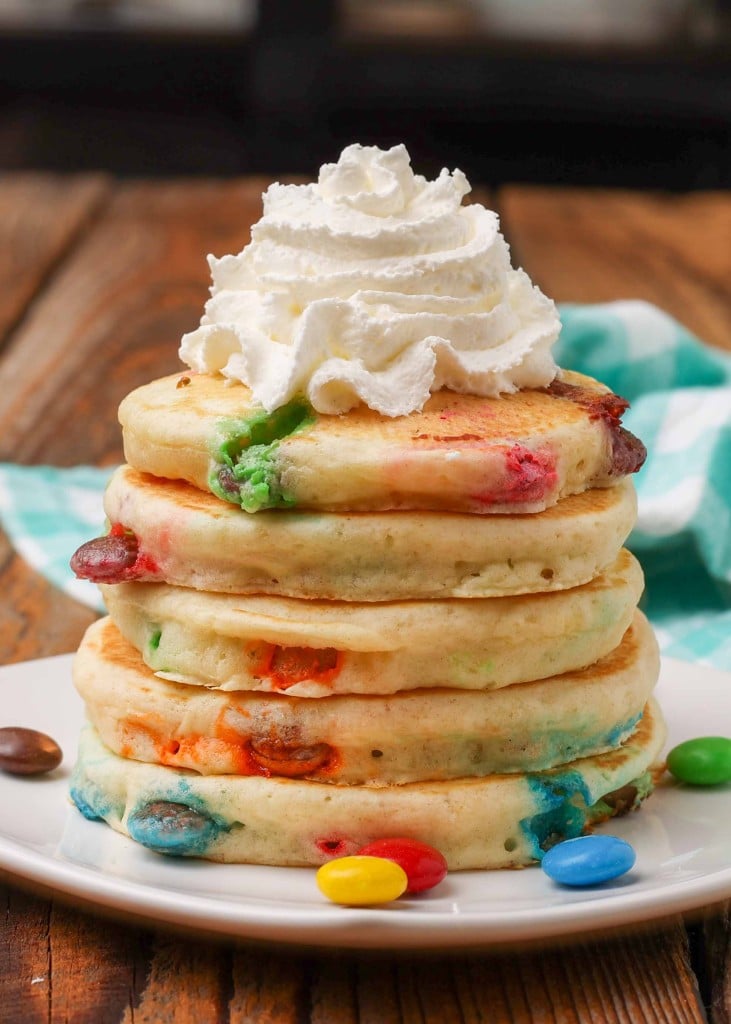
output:
[[[0,459],[121,459],[117,407],[180,367],[208,294],[205,253],[239,251],[262,182],[121,185],[32,305],[0,364]]]

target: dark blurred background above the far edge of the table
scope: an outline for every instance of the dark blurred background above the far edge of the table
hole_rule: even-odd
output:
[[[731,0],[0,0],[0,168],[731,183]]]

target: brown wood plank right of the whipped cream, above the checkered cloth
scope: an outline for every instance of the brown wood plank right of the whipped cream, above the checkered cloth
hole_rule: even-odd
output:
[[[509,186],[515,263],[557,302],[645,299],[731,350],[731,196]]]

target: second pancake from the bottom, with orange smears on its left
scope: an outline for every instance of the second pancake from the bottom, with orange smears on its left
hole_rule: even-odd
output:
[[[500,690],[410,690],[311,699],[156,677],[110,618],[74,660],[87,715],[116,754],[204,775],[385,785],[539,771],[613,750],[659,673],[637,612],[619,646],[583,672]]]

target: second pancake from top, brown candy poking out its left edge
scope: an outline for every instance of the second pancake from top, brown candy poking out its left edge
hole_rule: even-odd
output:
[[[538,515],[297,510],[243,515],[186,483],[127,466],[104,496],[112,537],[77,575],[341,601],[498,597],[576,587],[607,568],[636,515],[631,480]]]

